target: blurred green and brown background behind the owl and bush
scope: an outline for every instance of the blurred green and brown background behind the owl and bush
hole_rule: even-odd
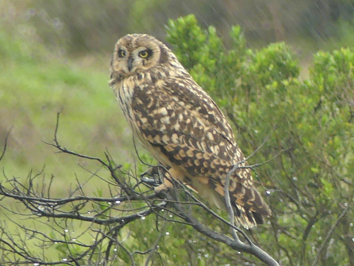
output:
[[[350,0],[1,1],[0,150],[11,130],[0,162],[6,176],[26,177],[45,165],[56,176],[52,196],[59,197],[67,195],[75,174],[80,181],[90,176],[80,166],[96,170],[94,163],[55,154],[42,142],[53,138],[60,110],[63,146],[100,157],[108,149],[117,163],[133,163],[131,132],[108,86],[113,45],[133,32],[165,41],[168,19],[189,13],[202,28],[214,25],[226,46],[235,24],[248,47],[285,41],[301,61],[302,77],[318,49],[354,43]],[[98,188],[105,194],[104,184],[92,180],[88,193]]]

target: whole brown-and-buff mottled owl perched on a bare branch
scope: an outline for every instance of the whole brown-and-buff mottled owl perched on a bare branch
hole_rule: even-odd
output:
[[[239,164],[229,183],[236,225],[252,228],[271,215],[227,119],[166,45],[147,34],[125,35],[115,44],[110,74],[133,135],[169,169],[166,176],[226,207],[226,174]],[[155,192],[172,188],[170,181]]]

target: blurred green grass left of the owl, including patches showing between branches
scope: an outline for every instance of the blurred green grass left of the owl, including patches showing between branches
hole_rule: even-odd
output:
[[[3,170],[0,182],[6,185],[5,176],[27,182],[31,170],[40,172],[45,165],[45,174],[38,179],[39,188],[53,174],[51,196],[54,198],[67,196],[75,188],[76,178],[80,183],[90,179],[84,187],[87,195],[98,192],[109,195],[107,184],[83,169],[96,171],[95,162],[57,154],[43,142],[52,141],[57,112],[62,110],[58,139],[63,146],[101,158],[108,149],[117,163],[132,161],[131,133],[108,86],[109,55],[68,60],[41,42],[11,36],[0,29],[0,60],[0,151],[10,131],[6,154],[0,161]],[[2,199],[0,204],[24,211],[21,204],[11,199]],[[6,214],[0,212],[0,218],[15,234],[17,226],[8,222]],[[34,223],[27,219],[18,222]],[[46,219],[42,222],[46,223]],[[80,233],[80,226],[73,223],[73,228],[78,228],[74,235]],[[45,228],[41,231],[49,235],[50,228]],[[87,238],[90,236],[81,236],[83,242]],[[31,243],[28,242],[34,247],[35,243]],[[55,248],[49,248],[46,255],[57,259],[58,253]]]

